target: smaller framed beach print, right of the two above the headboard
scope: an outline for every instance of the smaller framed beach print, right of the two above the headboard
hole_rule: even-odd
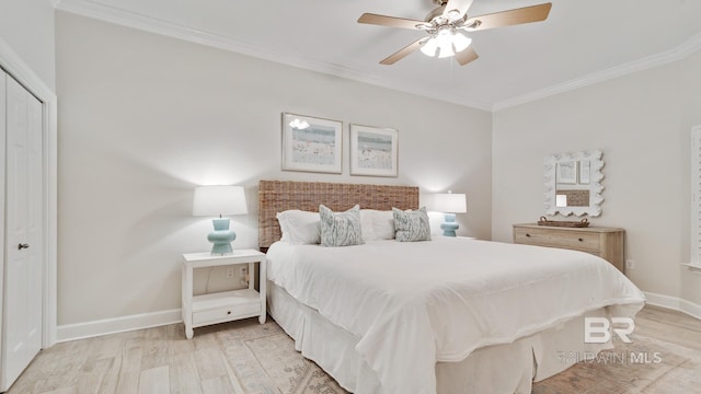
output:
[[[350,175],[398,176],[398,132],[350,125]]]

